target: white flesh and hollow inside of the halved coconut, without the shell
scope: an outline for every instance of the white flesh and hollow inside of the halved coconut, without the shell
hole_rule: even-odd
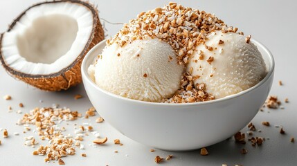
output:
[[[28,10],[2,39],[6,65],[29,75],[62,71],[84,51],[91,10],[78,3],[44,3]]]

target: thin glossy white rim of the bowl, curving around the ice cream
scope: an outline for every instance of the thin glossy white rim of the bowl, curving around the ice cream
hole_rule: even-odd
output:
[[[84,56],[84,59],[82,60],[82,66],[81,66],[82,81],[83,82],[87,81],[88,84],[91,84],[91,86],[93,86],[93,88],[97,89],[98,91],[100,91],[102,93],[105,93],[106,95],[110,95],[113,98],[118,98],[119,100],[124,100],[125,102],[131,102],[132,104],[148,104],[148,105],[154,105],[154,106],[159,106],[159,107],[185,107],[185,106],[199,106],[199,105],[215,104],[215,103],[218,103],[218,102],[225,102],[226,100],[232,100],[233,98],[238,98],[241,95],[244,95],[244,94],[249,93],[251,91],[255,91],[255,89],[258,89],[258,87],[260,87],[262,84],[264,84],[264,82],[267,82],[267,80],[269,80],[271,75],[273,75],[273,71],[274,71],[274,67],[275,67],[275,62],[274,62],[274,58],[273,58],[273,55],[272,55],[271,51],[266,46],[264,46],[261,42],[258,42],[258,40],[251,39],[251,42],[253,42],[253,44],[255,44],[255,46],[260,47],[260,48],[262,48],[262,50],[264,50],[264,52],[267,54],[265,56],[268,57],[268,63],[269,63],[269,65],[268,65],[269,68],[267,68],[268,69],[267,75],[260,82],[258,82],[258,84],[255,84],[251,88],[246,89],[244,91],[241,91],[239,93],[236,93],[236,94],[233,94],[233,95],[227,95],[224,98],[219,98],[219,99],[205,101],[205,102],[192,102],[192,103],[146,102],[146,101],[141,101],[141,100],[134,100],[134,99],[130,99],[130,98],[125,98],[125,97],[122,97],[120,95],[116,95],[114,93],[111,93],[109,91],[101,89],[89,77],[89,74],[87,73],[87,68],[89,66],[88,67],[86,66],[87,65],[86,64],[87,59],[91,56],[91,53],[93,53],[94,50],[96,50],[99,46],[105,44],[106,40],[107,39],[104,39],[100,43],[96,44],[96,46],[91,48],[91,50],[89,50],[87,55]],[[86,79],[84,79],[84,77],[86,77]],[[84,84],[84,86],[87,86],[87,84]]]

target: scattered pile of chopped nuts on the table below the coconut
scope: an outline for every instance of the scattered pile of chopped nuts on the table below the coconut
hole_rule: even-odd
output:
[[[40,145],[37,149],[37,155],[46,155],[45,162],[50,160],[58,160],[61,157],[75,154],[73,139],[62,135],[63,127],[56,128],[55,121],[57,120],[75,120],[78,118],[78,111],[71,111],[70,109],[59,108],[36,108],[25,113],[23,118],[17,124],[33,124],[36,126],[40,139],[47,139],[50,145],[46,147]],[[26,130],[30,127],[26,127]],[[25,138],[25,145],[36,145],[38,142],[33,138]],[[61,146],[63,145],[63,146]],[[36,151],[33,151],[33,155]]]

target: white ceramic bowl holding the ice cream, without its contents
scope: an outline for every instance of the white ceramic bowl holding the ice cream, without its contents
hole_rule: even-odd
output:
[[[82,62],[82,80],[100,116],[120,133],[159,149],[186,151],[213,145],[233,136],[248,124],[269,94],[274,61],[269,50],[252,40],[262,53],[268,73],[255,86],[208,102],[163,104],[114,95],[91,81],[87,68],[102,52],[105,41],[94,46]]]

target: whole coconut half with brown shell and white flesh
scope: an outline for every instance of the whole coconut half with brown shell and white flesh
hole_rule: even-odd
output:
[[[25,10],[0,38],[0,60],[13,77],[46,91],[82,82],[84,55],[104,39],[98,10],[78,0]]]

